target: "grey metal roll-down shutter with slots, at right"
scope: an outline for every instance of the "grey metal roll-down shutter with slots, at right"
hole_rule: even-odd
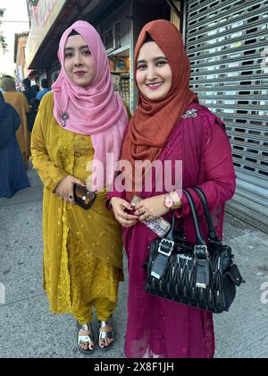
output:
[[[268,232],[268,0],[188,0],[185,22],[191,88],[230,137],[227,208]]]

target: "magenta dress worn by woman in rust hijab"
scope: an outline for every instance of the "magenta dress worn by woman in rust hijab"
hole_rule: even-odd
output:
[[[173,130],[160,160],[182,160],[183,187],[198,185],[205,192],[213,214],[217,235],[222,237],[225,201],[235,191],[235,173],[230,142],[222,121],[206,107],[191,104],[197,117],[181,120]],[[164,124],[163,124],[164,126]],[[193,194],[203,232],[205,220],[197,194]],[[161,192],[141,194],[143,198]],[[111,192],[125,197],[124,193]],[[195,230],[186,197],[177,214],[184,218],[188,241],[195,242]],[[170,214],[166,216],[170,219]],[[180,303],[148,295],[143,290],[148,258],[148,245],[155,234],[143,224],[124,229],[124,247],[129,256],[128,326],[125,354],[130,358],[211,358],[214,357],[213,316]]]

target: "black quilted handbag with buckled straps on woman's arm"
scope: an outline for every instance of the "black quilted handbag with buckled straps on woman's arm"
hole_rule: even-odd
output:
[[[164,238],[158,238],[149,245],[147,278],[145,290],[178,303],[201,310],[221,313],[229,311],[236,295],[236,286],[245,282],[229,245],[222,244],[214,231],[205,194],[198,187],[209,228],[208,242],[202,238],[198,225],[193,198],[188,198],[197,234],[197,244],[189,244],[183,234],[183,222],[175,230],[175,215],[172,227]]]

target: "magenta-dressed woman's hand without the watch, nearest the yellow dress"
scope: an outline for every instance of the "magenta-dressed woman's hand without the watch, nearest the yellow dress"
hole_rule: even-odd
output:
[[[132,227],[138,223],[138,216],[128,214],[126,210],[133,210],[130,202],[121,199],[120,197],[113,197],[110,201],[111,208],[113,209],[114,217],[123,227]]]

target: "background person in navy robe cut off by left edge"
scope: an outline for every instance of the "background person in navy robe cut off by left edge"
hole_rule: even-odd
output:
[[[16,110],[4,102],[0,93],[0,197],[11,198],[15,192],[28,188],[16,131],[21,119]]]

